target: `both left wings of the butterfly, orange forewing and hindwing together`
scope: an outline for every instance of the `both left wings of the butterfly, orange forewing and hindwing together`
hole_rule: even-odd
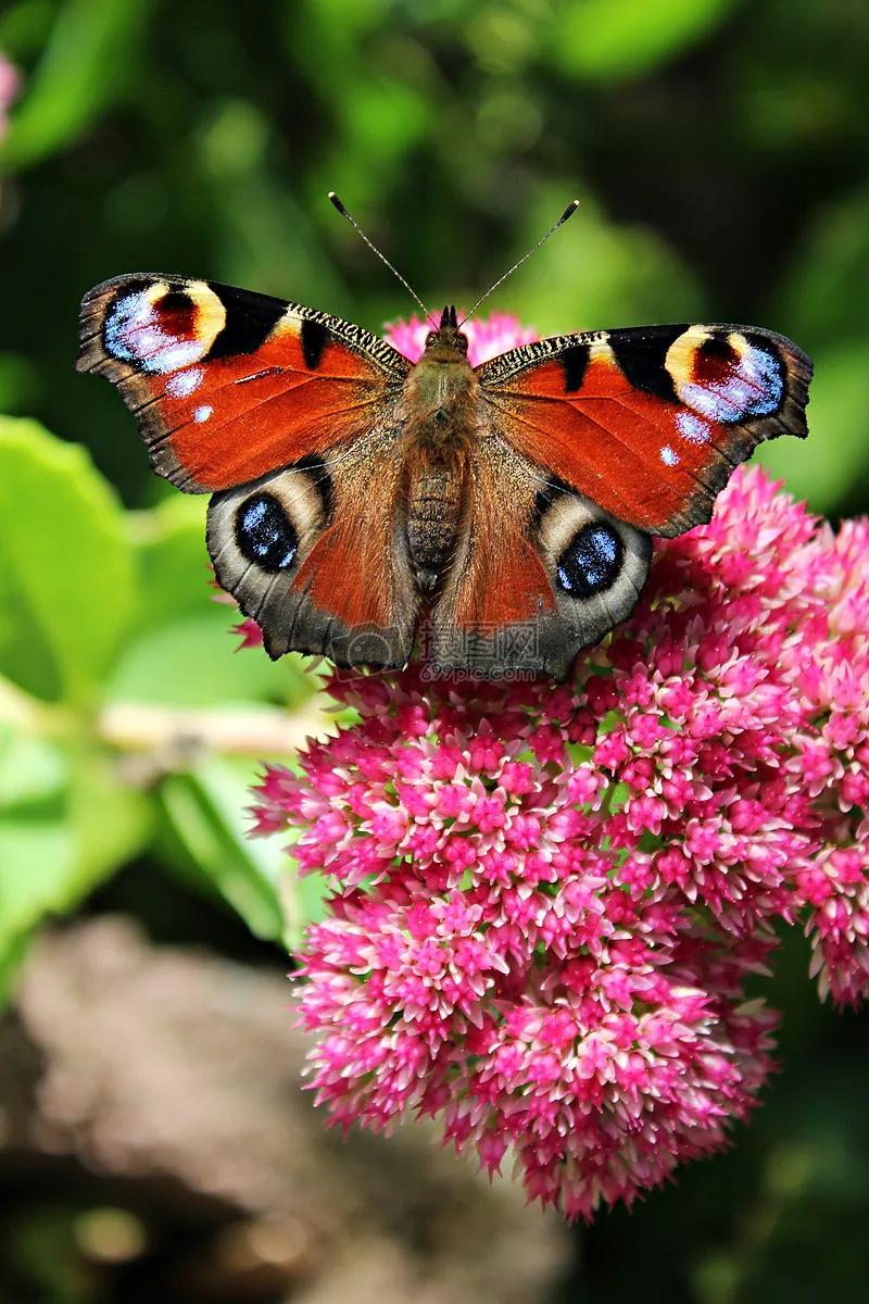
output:
[[[298,304],[151,274],[90,291],[81,343],[79,370],[117,385],[154,469],[215,492],[215,574],[271,656],[406,661],[416,600],[392,524],[400,353]]]

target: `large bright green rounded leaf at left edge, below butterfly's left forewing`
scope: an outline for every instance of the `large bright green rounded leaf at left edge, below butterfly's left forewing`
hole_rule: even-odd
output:
[[[86,703],[134,601],[120,506],[83,449],[0,419],[0,673]]]

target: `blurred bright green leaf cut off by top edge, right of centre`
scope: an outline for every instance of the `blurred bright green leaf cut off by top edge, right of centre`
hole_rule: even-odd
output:
[[[572,0],[551,25],[552,57],[575,77],[651,72],[713,33],[736,0]]]

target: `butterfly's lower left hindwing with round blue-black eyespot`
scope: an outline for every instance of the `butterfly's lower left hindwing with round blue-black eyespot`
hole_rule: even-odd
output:
[[[214,494],[215,575],[261,626],[271,657],[307,652],[356,668],[408,661],[417,599],[393,528],[400,469],[393,432],[377,428],[347,452]]]

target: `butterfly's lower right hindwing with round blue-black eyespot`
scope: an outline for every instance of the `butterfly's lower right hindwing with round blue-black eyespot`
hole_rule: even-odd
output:
[[[541,473],[495,430],[470,467],[465,524],[431,613],[435,665],[568,674],[633,610],[651,540]]]

